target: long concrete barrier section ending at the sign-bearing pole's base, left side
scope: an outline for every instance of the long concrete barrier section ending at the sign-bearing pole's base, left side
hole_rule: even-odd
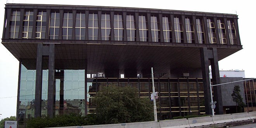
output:
[[[160,128],[157,121],[123,123],[122,128]]]

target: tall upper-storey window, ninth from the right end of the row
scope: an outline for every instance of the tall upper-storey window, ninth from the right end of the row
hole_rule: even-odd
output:
[[[148,33],[148,29],[147,29],[147,21],[146,21],[146,17],[141,15],[139,16],[139,21],[138,21],[138,25],[139,25],[139,35],[140,35],[140,41],[141,42],[146,42],[147,41],[147,33]]]

